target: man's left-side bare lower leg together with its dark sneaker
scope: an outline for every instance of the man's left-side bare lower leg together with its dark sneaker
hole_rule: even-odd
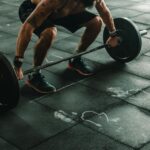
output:
[[[57,29],[55,27],[50,27],[45,29],[39,37],[35,45],[34,52],[34,67],[42,65],[48,49],[50,48],[53,40],[55,39],[57,34]],[[46,82],[44,76],[40,73],[40,71],[35,71],[31,75],[29,75],[29,79],[27,80],[27,84],[40,93],[49,93],[56,91],[56,88]]]

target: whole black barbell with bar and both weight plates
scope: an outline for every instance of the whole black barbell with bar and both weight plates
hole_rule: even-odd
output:
[[[102,48],[105,48],[108,54],[118,62],[126,63],[132,61],[140,53],[142,46],[141,35],[146,34],[147,31],[139,31],[135,23],[128,18],[115,18],[114,23],[118,31],[118,36],[121,39],[121,43],[118,44],[118,46],[111,48],[107,44],[104,44],[91,50],[60,59],[56,62],[28,69],[24,71],[24,75]],[[105,27],[103,32],[104,43],[106,43],[108,37],[109,31]],[[19,102],[19,97],[20,88],[16,73],[8,59],[0,53],[0,111],[7,111],[14,108]]]

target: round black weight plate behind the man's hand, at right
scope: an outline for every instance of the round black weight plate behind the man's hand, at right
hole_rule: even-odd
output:
[[[118,62],[126,63],[132,61],[141,50],[142,40],[140,32],[133,21],[128,18],[114,19],[116,29],[119,30],[122,42],[115,48],[108,48],[108,54]],[[105,27],[103,32],[103,41],[106,43],[109,37],[109,31]]]

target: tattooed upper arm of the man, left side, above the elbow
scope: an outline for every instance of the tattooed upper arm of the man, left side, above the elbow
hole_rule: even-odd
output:
[[[39,27],[47,16],[52,12],[52,5],[50,6],[45,1],[38,4],[35,10],[27,18],[28,22],[33,28]]]

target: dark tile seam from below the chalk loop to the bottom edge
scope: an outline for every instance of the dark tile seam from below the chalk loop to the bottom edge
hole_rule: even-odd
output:
[[[116,139],[116,138],[114,138],[114,137],[112,137],[112,136],[110,136],[110,135],[108,135],[108,134],[105,134],[104,132],[98,131],[98,130],[96,130],[96,129],[94,129],[94,128],[92,128],[92,127],[86,125],[86,124],[83,124],[83,123],[82,123],[81,125],[84,126],[84,127],[86,127],[86,128],[88,128],[88,129],[90,129],[90,130],[92,130],[92,131],[94,131],[95,133],[98,133],[98,134],[101,134],[101,135],[103,135],[103,136],[106,136],[106,137],[108,137],[109,139],[111,139],[112,141],[115,141],[115,142],[117,142],[117,143],[119,143],[119,144],[121,144],[121,145],[124,145],[124,146],[128,147],[128,148],[131,148],[131,149],[133,149],[133,150],[134,150],[134,148],[135,148],[135,147],[133,147],[133,146],[131,146],[131,145],[128,145],[128,144],[126,144],[126,143],[124,143],[124,142],[119,141],[118,139]]]

